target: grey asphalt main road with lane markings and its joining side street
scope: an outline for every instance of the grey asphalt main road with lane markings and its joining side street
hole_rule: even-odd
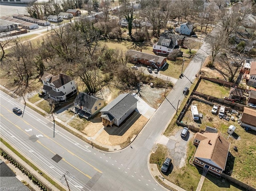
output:
[[[24,105],[2,91],[1,137],[60,185],[67,186],[62,176],[68,171],[71,190],[164,190],[150,174],[150,152],[175,115],[178,100],[179,104],[183,100],[182,90],[190,87],[200,71],[207,56],[206,50],[206,45],[202,45],[183,72],[184,77],[176,82],[131,146],[122,151],[100,152],[57,125],[53,138],[52,122],[28,107],[23,117],[14,114],[14,106],[24,108]]]

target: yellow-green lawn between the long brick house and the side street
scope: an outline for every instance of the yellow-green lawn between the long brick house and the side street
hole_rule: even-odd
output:
[[[160,73],[166,76],[179,79],[181,69],[182,71],[184,71],[186,67],[188,67],[190,60],[191,60],[190,58],[185,58],[183,69],[182,69],[183,58],[177,58],[176,61],[167,60],[168,65],[166,64],[166,66],[160,71]]]

